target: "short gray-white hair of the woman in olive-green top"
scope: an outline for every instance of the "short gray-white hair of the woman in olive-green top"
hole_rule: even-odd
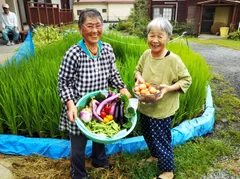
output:
[[[153,27],[164,30],[165,32],[167,32],[168,35],[172,35],[172,24],[164,17],[156,17],[151,22],[149,22],[147,26],[147,34]]]

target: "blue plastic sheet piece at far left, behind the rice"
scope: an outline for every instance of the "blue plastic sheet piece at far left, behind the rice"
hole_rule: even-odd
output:
[[[23,44],[8,61],[2,64],[2,66],[5,66],[8,63],[19,63],[22,59],[28,59],[30,56],[34,56],[34,44],[32,41],[32,32],[28,30],[27,38],[24,40]]]

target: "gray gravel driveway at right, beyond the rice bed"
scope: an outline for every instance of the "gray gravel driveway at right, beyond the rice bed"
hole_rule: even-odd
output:
[[[230,81],[240,97],[240,50],[193,42],[189,46],[206,59],[215,73]]]

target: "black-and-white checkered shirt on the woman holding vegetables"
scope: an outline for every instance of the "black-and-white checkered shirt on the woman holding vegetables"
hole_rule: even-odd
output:
[[[116,68],[116,59],[111,45],[101,42],[101,52],[91,58],[80,45],[73,45],[65,54],[58,73],[58,93],[63,102],[59,129],[79,135],[76,123],[67,117],[67,101],[77,101],[87,93],[106,90],[109,86],[117,89],[125,85]]]

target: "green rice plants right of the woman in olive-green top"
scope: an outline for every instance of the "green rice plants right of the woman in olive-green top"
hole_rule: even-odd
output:
[[[207,86],[212,78],[211,68],[205,59],[193,52],[183,41],[169,43],[168,49],[179,55],[192,77],[187,93],[180,95],[180,108],[174,118],[174,125],[183,119],[198,117],[204,110]]]

